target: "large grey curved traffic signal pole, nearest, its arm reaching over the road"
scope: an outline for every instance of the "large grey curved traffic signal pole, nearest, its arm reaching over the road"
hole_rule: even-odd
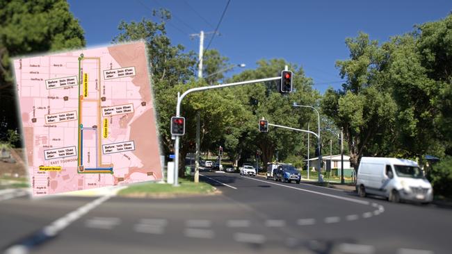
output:
[[[191,88],[189,90],[186,90],[181,96],[177,97],[176,117],[180,117],[182,100],[185,98],[185,96],[187,96],[188,94],[190,94],[192,92],[202,92],[205,90],[233,87],[236,85],[248,85],[248,84],[252,84],[252,83],[261,83],[261,82],[266,82],[266,81],[277,81],[280,79],[281,79],[281,77],[277,76],[277,77],[273,77],[273,78],[254,79],[252,81],[241,81],[241,82],[227,83],[227,84],[221,84],[221,85],[213,85],[213,86],[208,86],[208,87]],[[179,158],[179,138],[180,138],[179,136],[175,137],[175,167],[176,168],[175,168],[175,176],[174,176],[174,179],[175,179],[174,186],[179,186],[179,160],[180,160],[180,158]]]

